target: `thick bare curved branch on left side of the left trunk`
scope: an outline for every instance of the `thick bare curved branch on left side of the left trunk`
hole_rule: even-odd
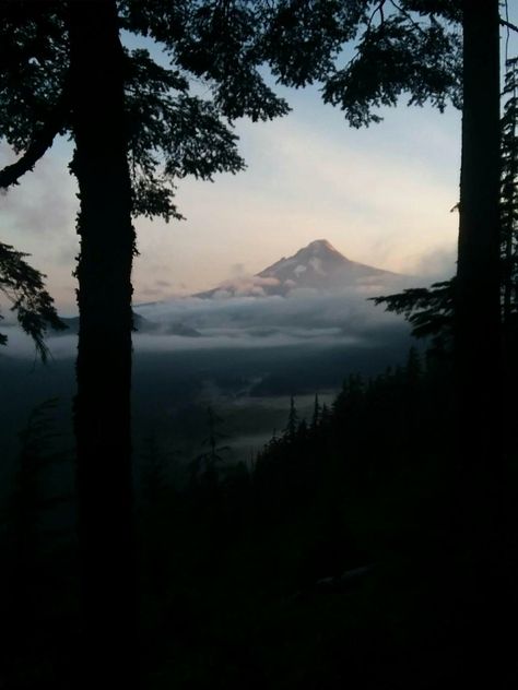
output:
[[[64,124],[64,119],[69,108],[69,87],[68,79],[63,86],[63,91],[50,112],[48,120],[44,123],[39,132],[35,135],[25,153],[11,165],[0,170],[0,189],[8,189],[13,185],[17,185],[20,178],[34,168],[36,163],[52,145],[55,136],[59,133]]]

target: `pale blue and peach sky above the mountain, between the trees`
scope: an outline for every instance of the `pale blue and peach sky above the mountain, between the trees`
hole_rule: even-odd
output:
[[[510,19],[514,19],[513,16]],[[455,270],[460,114],[382,110],[351,129],[317,87],[276,88],[293,108],[270,122],[236,122],[247,169],[214,182],[178,182],[186,221],[137,219],[134,301],[190,295],[255,274],[315,239],[349,259],[415,275]],[[63,314],[75,312],[78,209],[71,145],[57,141],[22,183],[0,198],[1,239],[32,254]],[[0,147],[0,166],[13,159]]]

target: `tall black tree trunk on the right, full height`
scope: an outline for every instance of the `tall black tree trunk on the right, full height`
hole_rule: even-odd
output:
[[[467,668],[507,687],[509,610],[502,449],[498,0],[463,0],[463,109],[455,361],[460,461],[451,524]],[[454,609],[455,610],[455,609]],[[507,658],[506,658],[507,657]]]

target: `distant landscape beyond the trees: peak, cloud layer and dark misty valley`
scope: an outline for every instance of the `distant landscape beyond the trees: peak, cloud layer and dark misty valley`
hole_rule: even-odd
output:
[[[138,442],[156,433],[189,457],[211,405],[231,435],[229,457],[249,457],[273,429],[283,428],[291,395],[309,416],[315,394],[330,403],[349,373],[374,376],[404,359],[408,325],[368,298],[414,283],[351,261],[319,239],[256,275],[190,297],[137,304]],[[32,342],[5,328],[0,370],[12,397],[2,397],[0,414],[10,424],[21,426],[31,406],[57,396],[70,426],[79,321],[64,322],[67,331],[49,333],[51,359],[45,367],[34,360]]]

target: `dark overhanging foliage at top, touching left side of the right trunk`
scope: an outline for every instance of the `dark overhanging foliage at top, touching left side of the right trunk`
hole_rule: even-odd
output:
[[[269,8],[262,47],[279,82],[321,82],[323,100],[353,127],[380,121],[374,110],[405,93],[409,105],[459,106],[459,2],[286,0]],[[354,52],[343,66],[348,49]]]

